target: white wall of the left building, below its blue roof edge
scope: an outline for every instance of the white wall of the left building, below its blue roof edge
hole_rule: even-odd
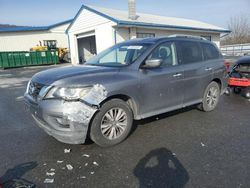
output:
[[[57,40],[57,47],[68,48],[65,30],[69,24],[55,27],[50,31],[23,31],[0,33],[0,51],[29,51],[39,41]]]

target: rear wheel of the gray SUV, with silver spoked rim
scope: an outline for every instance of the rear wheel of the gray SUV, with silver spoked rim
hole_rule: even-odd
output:
[[[203,99],[201,104],[198,106],[198,108],[204,112],[210,112],[213,111],[220,98],[220,86],[217,82],[211,82],[203,95]]]

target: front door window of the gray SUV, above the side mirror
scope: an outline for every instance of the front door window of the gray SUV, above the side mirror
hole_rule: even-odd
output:
[[[173,42],[166,42],[160,44],[148,56],[148,59],[161,59],[162,60],[161,67],[177,65],[178,63],[177,63],[175,44]]]

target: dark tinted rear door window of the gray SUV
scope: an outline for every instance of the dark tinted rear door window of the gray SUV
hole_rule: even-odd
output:
[[[177,49],[181,55],[182,64],[202,61],[202,51],[198,42],[179,41]]]

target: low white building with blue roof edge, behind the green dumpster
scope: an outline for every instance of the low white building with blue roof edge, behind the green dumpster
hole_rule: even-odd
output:
[[[56,41],[57,47],[68,48],[66,29],[71,20],[43,27],[0,28],[0,52],[29,51],[46,41]]]

